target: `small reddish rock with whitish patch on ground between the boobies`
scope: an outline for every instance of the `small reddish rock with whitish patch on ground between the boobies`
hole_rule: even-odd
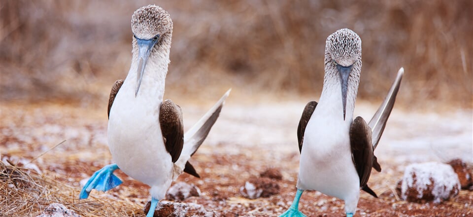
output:
[[[266,177],[252,178],[246,181],[244,186],[240,187],[240,193],[249,199],[270,197],[279,193],[279,185]]]

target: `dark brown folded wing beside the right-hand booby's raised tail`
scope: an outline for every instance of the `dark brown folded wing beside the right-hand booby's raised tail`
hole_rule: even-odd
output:
[[[353,163],[360,177],[360,187],[372,196],[377,197],[374,191],[367,185],[375,156],[373,154],[372,132],[362,117],[356,117],[351,124],[350,145]]]

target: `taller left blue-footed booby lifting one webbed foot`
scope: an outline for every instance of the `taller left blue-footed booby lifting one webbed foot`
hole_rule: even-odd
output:
[[[114,164],[94,173],[80,192],[85,199],[92,189],[106,191],[122,181],[113,175],[125,174],[151,188],[152,217],[171,182],[182,172],[199,177],[188,162],[217,120],[223,97],[185,134],[178,105],[163,101],[168,73],[172,21],[156,5],[141,7],[132,16],[133,59],[125,80],[114,83],[108,102],[108,145]]]

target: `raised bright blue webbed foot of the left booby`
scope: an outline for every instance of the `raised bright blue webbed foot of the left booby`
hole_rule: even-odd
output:
[[[118,169],[117,164],[110,164],[95,172],[80,191],[79,199],[89,197],[92,189],[107,191],[121,184],[123,181],[113,175],[113,171],[116,169]]]

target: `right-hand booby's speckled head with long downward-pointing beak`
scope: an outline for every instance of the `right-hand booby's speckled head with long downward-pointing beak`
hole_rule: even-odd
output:
[[[346,98],[349,85],[358,88],[361,71],[361,39],[349,29],[340,29],[327,37],[325,44],[325,73],[337,73],[341,85],[343,119],[345,119]],[[349,84],[349,78],[355,84]],[[356,92],[355,92],[356,95]]]

